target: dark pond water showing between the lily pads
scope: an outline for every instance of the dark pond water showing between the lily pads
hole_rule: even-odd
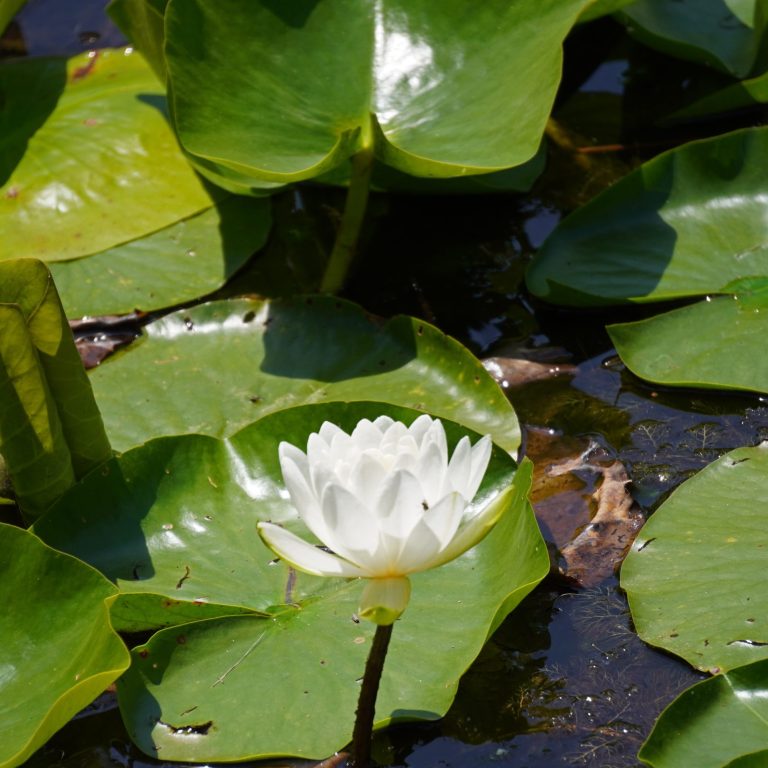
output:
[[[64,54],[119,44],[102,6],[97,0],[31,0],[3,50]],[[574,85],[583,85],[569,91],[573,85],[566,81],[555,117],[571,140],[589,136],[591,146],[606,151],[574,161],[556,141],[545,176],[525,196],[374,196],[365,258],[345,294],[374,313],[422,317],[512,372],[501,378],[537,466],[536,511],[545,537],[559,548],[594,513],[601,467],[618,461],[626,468],[637,511],[648,515],[717,456],[768,439],[768,404],[762,398],[661,391],[623,368],[604,326],[642,310],[566,312],[525,294],[525,267],[563,211],[626,172],[645,151],[657,151],[659,142],[680,140],[645,124],[642,104],[661,67],[665,78],[656,82],[664,85],[662,92],[657,86],[654,99],[693,87],[684,85],[684,66],[638,52],[611,22],[598,26],[599,39],[589,46],[596,60],[578,39],[569,43],[569,71],[582,66],[584,75]],[[625,151],[608,151],[619,141]],[[323,247],[318,238],[330,230],[327,211],[340,200],[336,190],[308,187],[275,201],[279,226],[292,233],[308,275]],[[280,254],[278,236],[264,259]],[[263,274],[263,261],[257,260],[219,295],[260,292]],[[520,359],[543,361],[545,368],[561,364],[564,372],[520,382],[513,378],[519,365],[505,362]],[[592,459],[581,468],[552,472],[586,451]],[[637,750],[658,714],[702,676],[637,638],[615,572],[600,568],[581,583],[553,571],[486,645],[447,716],[379,734],[376,759],[407,768],[637,765]],[[131,745],[114,698],[105,694],[28,765],[160,763]]]

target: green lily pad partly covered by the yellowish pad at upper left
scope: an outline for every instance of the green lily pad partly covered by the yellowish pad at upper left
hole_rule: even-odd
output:
[[[217,205],[88,258],[51,264],[69,317],[149,311],[222,286],[265,243],[266,200],[227,196]]]

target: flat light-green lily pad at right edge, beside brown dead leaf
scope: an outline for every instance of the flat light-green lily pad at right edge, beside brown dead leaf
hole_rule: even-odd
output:
[[[762,443],[722,456],[653,514],[621,570],[643,640],[703,670],[768,658],[767,496]]]

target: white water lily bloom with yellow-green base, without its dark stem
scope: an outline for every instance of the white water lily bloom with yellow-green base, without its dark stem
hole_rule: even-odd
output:
[[[470,507],[490,437],[474,446],[463,437],[449,460],[445,429],[427,415],[410,427],[388,416],[363,419],[351,435],[325,422],[306,454],[283,442],[279,457],[291,501],[325,549],[273,523],[259,523],[262,538],[299,570],[369,579],[359,613],[380,625],[408,604],[408,574],[463,554],[501,514],[490,499]]]

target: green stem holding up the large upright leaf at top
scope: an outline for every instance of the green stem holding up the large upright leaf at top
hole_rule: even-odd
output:
[[[352,174],[349,179],[347,200],[341,225],[336,233],[331,257],[325,268],[321,293],[338,293],[344,287],[352,258],[357,248],[357,239],[365,218],[370,190],[371,169],[373,168],[373,147],[366,146],[352,156]]]

